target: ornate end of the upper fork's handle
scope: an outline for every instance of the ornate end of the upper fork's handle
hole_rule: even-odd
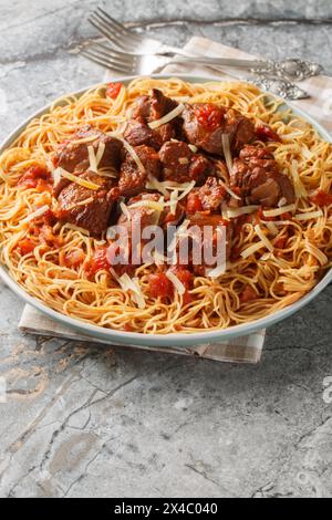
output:
[[[259,74],[272,74],[289,81],[302,81],[305,77],[315,76],[323,72],[322,65],[304,60],[289,58],[283,61],[268,60],[253,66],[251,72]]]

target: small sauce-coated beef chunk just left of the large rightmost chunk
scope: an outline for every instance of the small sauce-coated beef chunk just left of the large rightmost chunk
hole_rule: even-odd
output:
[[[194,188],[188,195],[187,208],[196,210],[217,211],[225,199],[226,190],[217,177],[208,177],[200,188]],[[198,200],[198,202],[197,202]]]

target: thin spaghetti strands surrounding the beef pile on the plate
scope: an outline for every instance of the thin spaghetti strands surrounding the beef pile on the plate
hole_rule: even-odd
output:
[[[107,243],[106,233],[95,238],[80,227],[51,219],[37,233],[33,222],[27,219],[34,211],[44,218],[38,210],[53,208],[54,198],[46,183],[22,183],[28,168],[50,171],[59,144],[73,138],[84,125],[107,134],[122,133],[135,100],[147,95],[151,89],[159,89],[179,103],[187,100],[235,108],[255,124],[269,125],[281,141],[264,145],[290,179],[295,168],[299,194],[295,218],[282,212],[282,208],[276,217],[255,207],[249,215],[237,215],[242,226],[232,237],[226,272],[217,278],[196,275],[186,291],[186,283],[180,280],[181,290],[174,290],[168,300],[152,295],[149,277],[156,272],[156,264],[137,267],[135,283],[128,283],[126,290],[117,283],[96,254]],[[89,139],[87,144],[92,150]],[[102,152],[95,163],[101,160]],[[231,168],[230,160],[228,167]],[[331,267],[332,146],[309,123],[281,106],[281,101],[268,98],[253,85],[138,77],[123,85],[115,100],[105,96],[105,85],[91,89],[81,97],[64,97],[33,119],[2,153],[0,179],[1,262],[32,297],[61,313],[100,326],[145,334],[228,327],[290,305]],[[320,191],[330,195],[326,204],[321,205],[315,197]],[[264,226],[268,221],[273,225]],[[243,253],[248,250],[249,254]],[[98,262],[97,270],[92,270],[93,262]],[[255,287],[250,294],[245,291],[248,285]]]

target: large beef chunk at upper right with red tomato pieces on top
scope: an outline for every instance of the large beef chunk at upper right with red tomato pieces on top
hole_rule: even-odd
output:
[[[188,142],[209,154],[224,157],[222,134],[228,136],[232,153],[238,153],[246,143],[255,139],[250,119],[234,110],[211,103],[187,104],[181,116]]]

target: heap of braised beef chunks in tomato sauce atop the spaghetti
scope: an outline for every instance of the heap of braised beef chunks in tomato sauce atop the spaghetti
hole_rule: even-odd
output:
[[[229,199],[229,195],[225,189],[225,184],[216,176],[216,157],[208,156],[211,154],[224,157],[224,134],[228,136],[232,156],[239,155],[234,158],[230,188],[241,197],[240,204],[276,207],[281,199],[284,204],[292,204],[295,198],[294,189],[290,179],[279,171],[273,154],[268,148],[249,144],[257,138],[251,121],[231,108],[210,103],[187,104],[181,116],[155,129],[148,126],[148,123],[159,119],[176,106],[176,101],[156,89],[151,95],[137,100],[124,138],[134,148],[143,168],[138,166],[133,154],[125,149],[120,139],[98,129],[82,128],[72,141],[63,143],[54,156],[54,165],[97,185],[98,189],[61,178],[60,183],[53,187],[53,196],[58,199],[54,216],[61,222],[70,222],[89,230],[94,237],[100,237],[110,223],[116,221],[114,216],[117,218],[117,223],[127,229],[129,236],[135,226],[139,226],[143,230],[147,226],[158,225],[166,231],[169,225],[178,226],[186,218],[189,220],[188,229],[194,226],[196,231],[189,231],[191,259],[186,267],[179,267],[185,269],[189,277],[193,273],[206,275],[214,266],[207,266],[204,260],[199,264],[194,262],[193,251],[197,239],[195,232],[203,230],[205,226],[210,226],[214,231],[210,240],[216,252],[218,228],[226,226],[227,259],[230,254],[234,233],[234,223],[225,221],[220,215],[220,206],[224,200]],[[260,132],[263,136],[277,139],[276,135],[266,128]],[[179,138],[187,139],[201,153],[193,152],[193,146],[185,141],[178,141]],[[105,177],[89,169],[87,147],[92,146],[96,154],[101,143],[105,145],[105,149],[98,167],[113,168],[117,173],[116,178]],[[40,174],[39,177],[44,181],[49,180],[49,178],[44,179],[43,175]],[[146,181],[149,177],[169,183],[195,180],[196,186],[186,198],[177,201],[173,214],[169,196],[163,191],[162,198],[160,193],[146,191]],[[35,179],[31,180],[28,175],[22,178],[21,183],[28,180],[35,183]],[[118,217],[118,209],[115,208],[114,202],[120,197],[124,197],[127,210]],[[149,205],[149,201],[154,204]],[[144,243],[145,240],[141,239],[138,245],[141,249]],[[34,242],[28,245],[25,249],[33,247]],[[129,251],[129,254],[132,252]],[[97,254],[95,263],[98,262],[96,264],[100,266],[101,253]],[[106,252],[103,251],[103,261],[105,258]],[[108,257],[106,260],[110,264]],[[123,269],[125,269],[124,266]],[[132,264],[131,269],[133,269]],[[165,281],[164,285],[166,284],[167,291],[166,289],[165,291],[170,294],[173,287],[169,280]],[[188,290],[187,285],[186,289]]]

